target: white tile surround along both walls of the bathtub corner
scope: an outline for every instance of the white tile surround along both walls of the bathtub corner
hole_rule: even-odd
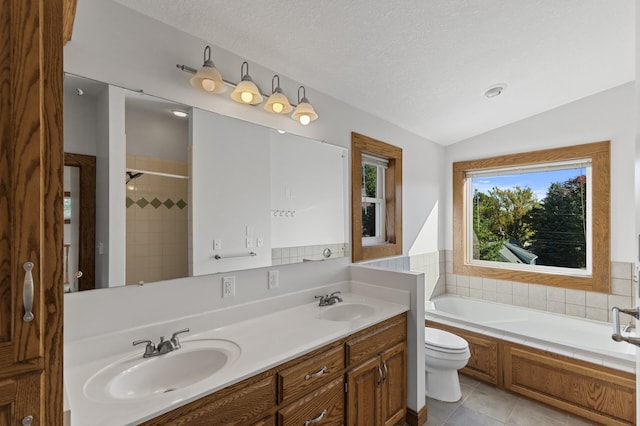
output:
[[[489,300],[579,318],[611,322],[611,308],[633,307],[633,263],[611,262],[611,294],[453,273],[453,252],[425,253],[367,262],[367,265],[425,273],[427,299],[443,293]]]

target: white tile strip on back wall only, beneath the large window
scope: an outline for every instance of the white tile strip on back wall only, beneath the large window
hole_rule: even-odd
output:
[[[445,251],[446,293],[532,308],[595,321],[612,322],[611,308],[635,306],[633,263],[611,262],[611,294],[534,283],[453,274],[453,253]],[[622,316],[626,324],[631,317]]]

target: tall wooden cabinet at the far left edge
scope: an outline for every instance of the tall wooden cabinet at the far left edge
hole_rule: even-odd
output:
[[[0,0],[0,425],[63,423],[62,47],[74,10]]]

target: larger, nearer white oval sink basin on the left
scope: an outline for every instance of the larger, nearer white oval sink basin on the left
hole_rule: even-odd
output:
[[[98,401],[153,397],[198,383],[230,365],[240,347],[228,340],[191,340],[173,352],[142,358],[142,352],[118,360],[94,374],[85,385]]]

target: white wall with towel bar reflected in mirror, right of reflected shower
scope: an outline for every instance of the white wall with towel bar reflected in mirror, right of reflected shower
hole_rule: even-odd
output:
[[[269,129],[194,108],[190,133],[191,175],[198,177],[190,180],[193,275],[270,266],[271,188],[256,178],[270,173]],[[256,256],[213,258],[249,252]]]

